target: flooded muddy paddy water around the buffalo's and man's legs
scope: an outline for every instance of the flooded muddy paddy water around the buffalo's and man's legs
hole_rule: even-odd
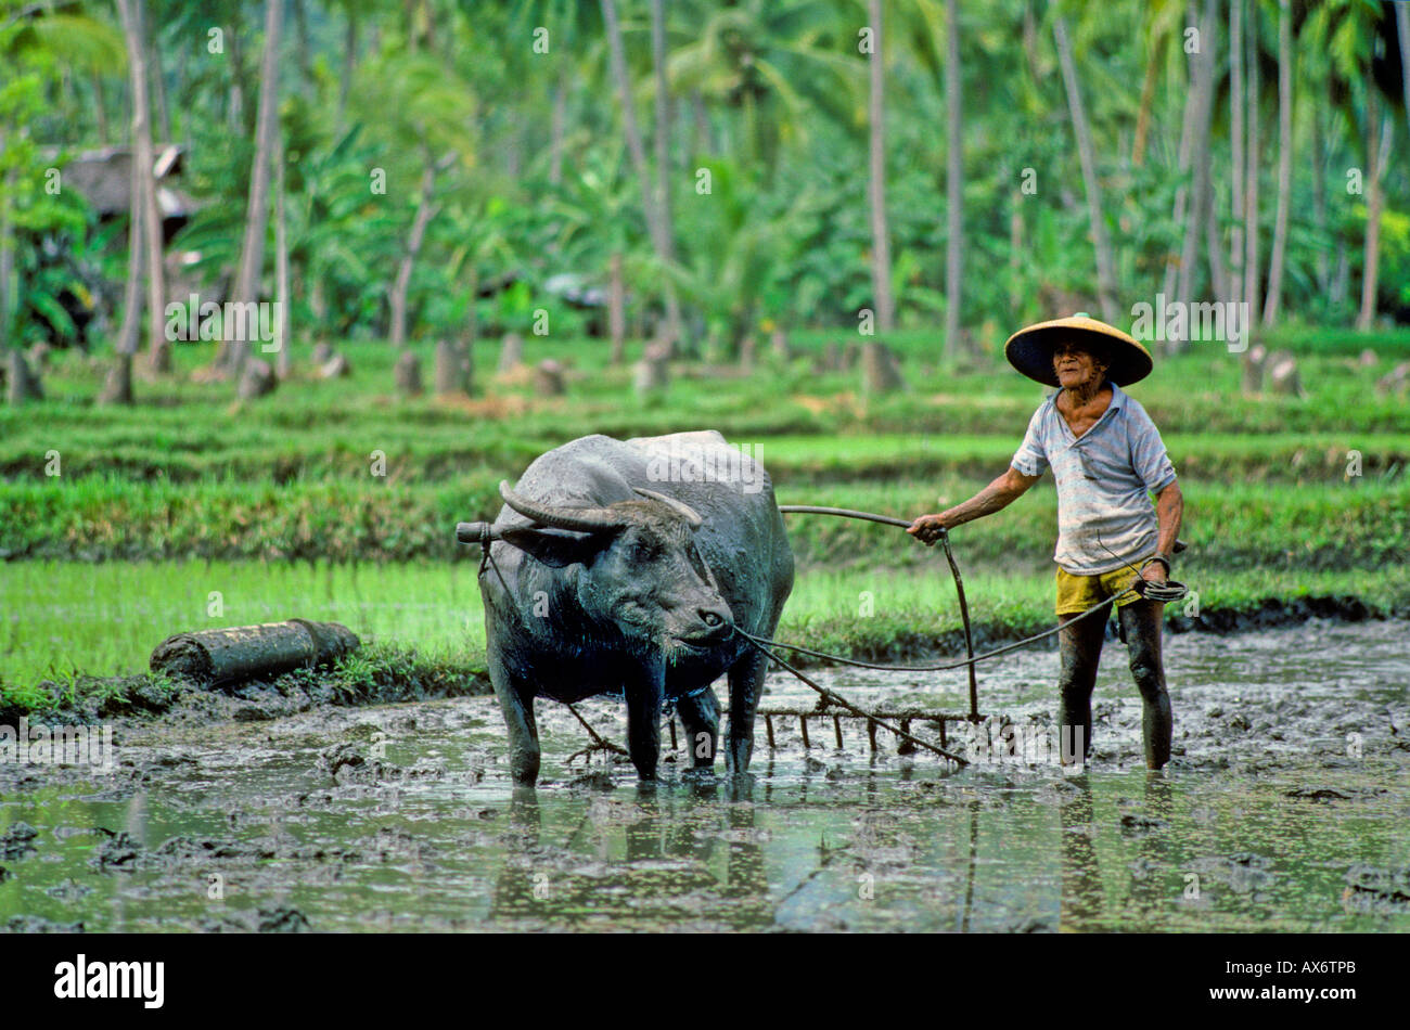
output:
[[[1050,651],[984,666],[984,710],[1028,743],[959,772],[884,731],[871,752],[857,724],[805,750],[778,721],[752,785],[667,761],[643,792],[602,755],[570,767],[585,736],[540,702],[544,782],[516,796],[488,697],[124,726],[113,772],[0,768],[0,927],[1404,931],[1407,630],[1167,638],[1176,758],[1155,776],[1115,641],[1080,775],[1026,730],[1056,712]],[[821,678],[966,700],[956,674]],[[812,700],[770,679],[768,705]],[[581,710],[622,738],[616,703]]]

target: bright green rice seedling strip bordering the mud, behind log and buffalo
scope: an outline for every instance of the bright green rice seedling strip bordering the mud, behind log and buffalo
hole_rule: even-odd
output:
[[[962,571],[983,635],[1012,638],[1052,624],[1050,566],[1001,575],[962,562]],[[1410,606],[1410,569],[1403,565],[1376,575],[1293,568],[1182,576],[1204,612],[1330,595],[1358,597],[1379,614]],[[220,614],[210,614],[212,592],[221,595]],[[85,676],[142,672],[152,648],[172,633],[292,616],[341,621],[364,638],[368,654],[341,674],[354,679],[379,675],[388,664],[410,662],[422,678],[484,669],[482,609],[468,565],[25,562],[6,568],[0,612],[0,693],[24,707],[48,703],[44,681],[70,696],[113,689]],[[1183,603],[1167,610],[1172,617],[1189,613]],[[895,657],[950,647],[959,628],[955,588],[936,555],[924,569],[799,575],[778,637],[840,654]]]

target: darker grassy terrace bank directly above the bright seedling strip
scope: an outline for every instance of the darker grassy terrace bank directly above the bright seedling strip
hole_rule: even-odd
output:
[[[486,469],[439,483],[371,476],[285,485],[116,478],[13,483],[0,489],[0,555],[478,561],[478,550],[454,541],[454,527],[495,516],[495,485],[505,475],[515,473]],[[988,480],[953,473],[809,480],[780,475],[777,468],[773,475],[780,503],[901,517],[939,510],[940,497],[957,503]],[[1400,476],[1304,485],[1184,478],[1182,486],[1183,535],[1194,547],[1191,559],[1201,562],[1371,568],[1397,561],[1410,544],[1410,482]],[[924,551],[894,530],[818,516],[788,516],[788,527],[795,552],[811,564],[924,559]],[[1055,533],[1056,493],[1045,476],[1003,514],[956,530],[955,540],[967,561],[1041,561],[1050,557]]]

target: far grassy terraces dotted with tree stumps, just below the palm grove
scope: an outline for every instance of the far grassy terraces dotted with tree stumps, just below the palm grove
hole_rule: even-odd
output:
[[[1277,437],[1268,466],[1282,466],[1297,448],[1351,448],[1389,466],[1407,452],[1410,411],[1402,397],[1378,396],[1375,382],[1410,351],[1410,333],[1368,337],[1382,347],[1375,368],[1317,352],[1304,354],[1307,399],[1244,397],[1239,361],[1218,348],[1191,349],[1162,359],[1146,382],[1132,387],[1172,449],[1203,461],[1206,454],[1232,459],[1256,455],[1258,442],[1232,437]],[[816,352],[823,337],[799,337]],[[526,382],[496,382],[482,375],[482,389],[502,409],[458,407],[433,397],[392,396],[393,355],[382,344],[350,344],[354,375],[344,380],[296,380],[257,404],[233,403],[228,383],[192,383],[173,378],[137,385],[131,409],[94,409],[103,362],[61,354],[47,378],[49,400],[20,409],[0,407],[0,475],[39,480],[51,451],[65,476],[117,472],[128,478],[202,480],[271,478],[276,482],[365,475],[368,455],[386,452],[398,475],[436,478],[474,466],[526,464],[546,447],[587,433],[640,435],[698,428],[722,430],[743,442],[781,442],[780,457],[799,435],[901,435],[912,449],[933,448],[926,461],[1003,459],[1017,445],[1042,387],[1007,365],[963,373],[926,359],[918,345],[898,349],[909,389],[863,400],[860,375],[815,373],[808,358],[787,366],[763,365],[750,378],[712,378],[701,366],[682,366],[668,392],[639,402],[627,368],[606,368],[601,341],[530,340],[527,356],[575,364],[568,395],[530,396]],[[430,364],[430,349],[419,345]],[[492,369],[496,344],[477,348],[481,369]],[[209,361],[210,347],[182,345],[178,364],[190,372]],[[481,399],[484,400],[484,399]],[[1221,437],[1206,441],[1213,434]],[[990,437],[990,440],[976,440]],[[1383,440],[1382,440],[1383,437]],[[881,449],[885,445],[871,444]],[[1010,449],[1011,454],[1011,449]],[[894,457],[894,455],[893,455]],[[1372,468],[1378,468],[1373,465]]]

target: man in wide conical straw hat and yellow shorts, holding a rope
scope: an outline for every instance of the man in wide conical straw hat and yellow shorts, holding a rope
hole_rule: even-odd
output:
[[[907,533],[931,545],[943,530],[1007,507],[1052,465],[1062,627],[1059,734],[1063,762],[1081,764],[1091,752],[1091,689],[1107,620],[1104,614],[1074,619],[1121,595],[1136,575],[1148,583],[1166,582],[1184,499],[1155,423],[1121,389],[1151,373],[1151,354],[1141,344],[1079,314],[1019,330],[1004,352],[1025,376],[1059,390],[1034,413],[1004,475],[963,504],[921,516]],[[1153,507],[1146,495],[1155,496]],[[1115,607],[1145,706],[1146,768],[1159,769],[1170,758],[1170,696],[1160,665],[1163,603],[1125,593]]]

